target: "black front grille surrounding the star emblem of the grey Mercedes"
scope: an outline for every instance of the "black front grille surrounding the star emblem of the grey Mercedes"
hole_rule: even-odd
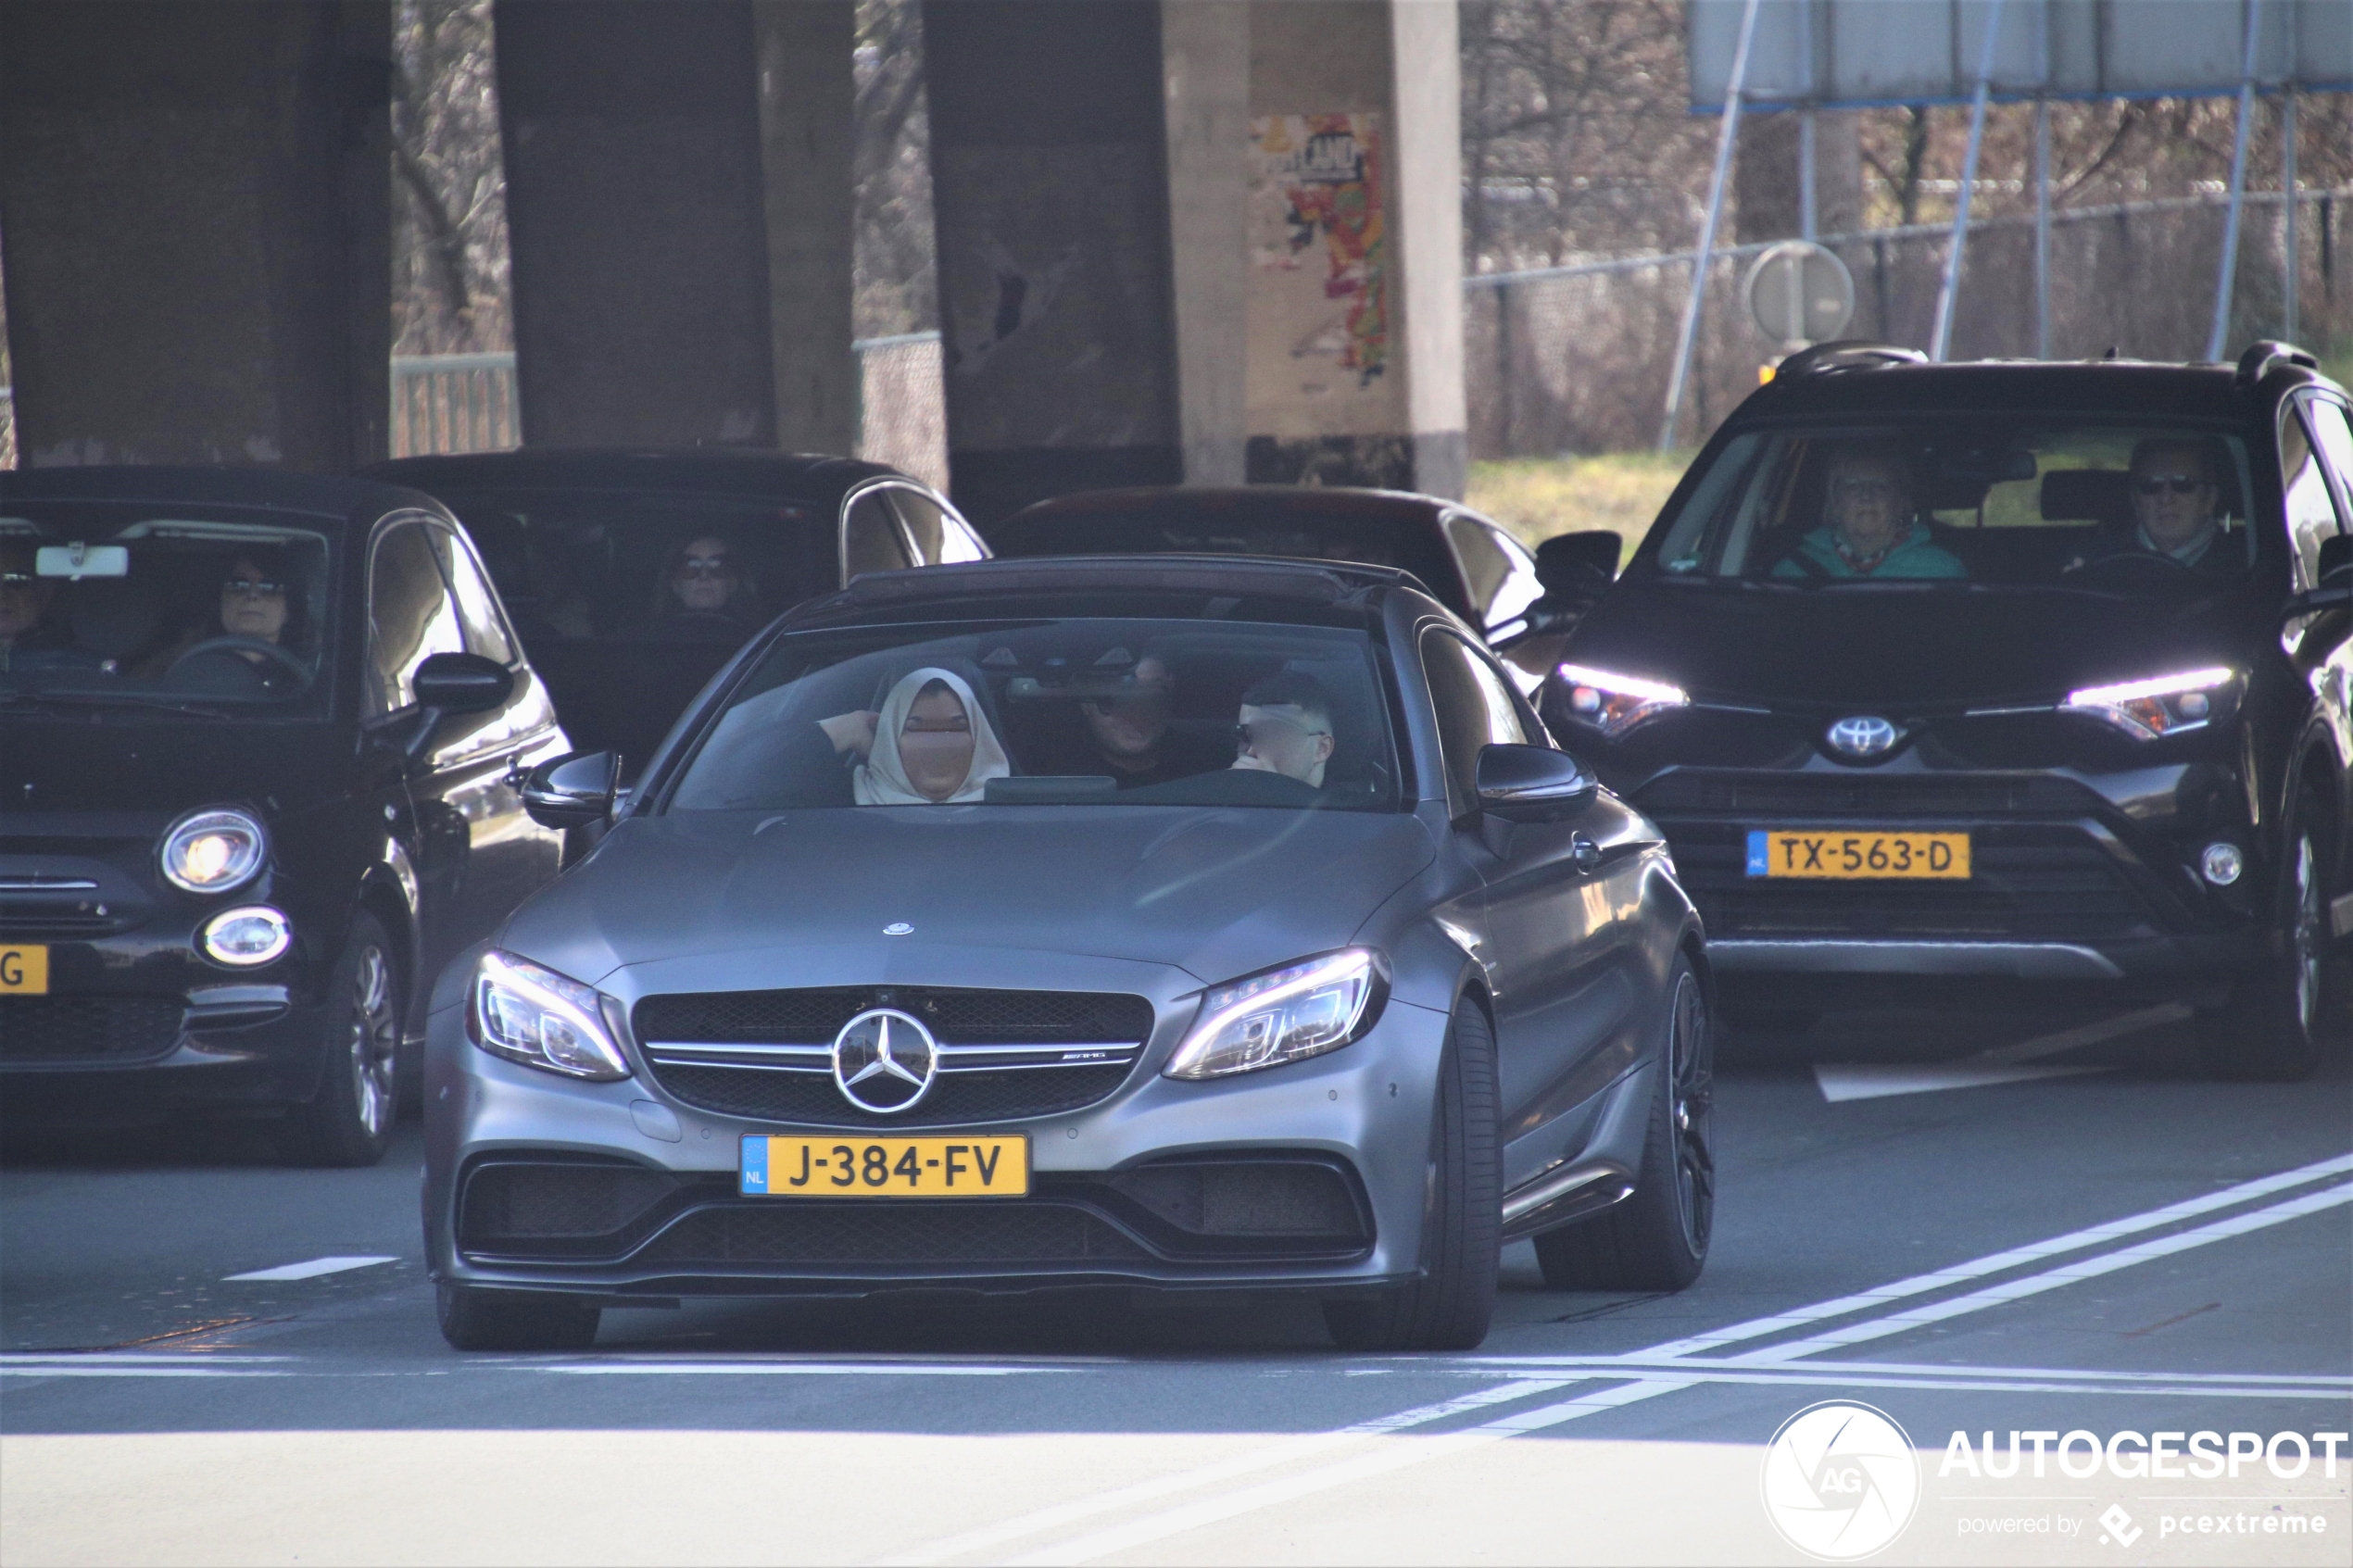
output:
[[[889,1006],[939,1041],[939,1077],[911,1110],[878,1117],[833,1084],[833,1037]],[[833,985],[645,997],[631,1016],[654,1081],[687,1105],[800,1126],[969,1126],[1106,1100],[1153,1030],[1153,1004],[1118,992]]]

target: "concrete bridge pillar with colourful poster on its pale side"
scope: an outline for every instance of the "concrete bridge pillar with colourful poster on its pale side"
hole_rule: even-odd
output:
[[[1447,0],[934,0],[958,503],[1461,494]]]

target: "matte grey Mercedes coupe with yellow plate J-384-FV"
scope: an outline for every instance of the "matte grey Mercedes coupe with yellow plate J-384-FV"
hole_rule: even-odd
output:
[[[1412,576],[875,574],[776,621],[595,849],[440,980],[426,1244],[461,1349],[602,1307],[1301,1288],[1471,1347],[1497,1251],[1697,1279],[1708,973],[1659,830]]]

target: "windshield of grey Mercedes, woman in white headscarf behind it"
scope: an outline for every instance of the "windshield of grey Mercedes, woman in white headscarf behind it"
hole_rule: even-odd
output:
[[[671,806],[1391,811],[1374,658],[1365,632],[1202,621],[784,637]]]

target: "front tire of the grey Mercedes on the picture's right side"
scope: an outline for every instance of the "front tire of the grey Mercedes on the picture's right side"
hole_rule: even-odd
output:
[[[1341,1349],[1473,1349],[1494,1319],[1504,1237],[1504,1164],[1494,1025],[1464,999],[1438,1060],[1421,1279],[1369,1298],[1327,1300]]]

